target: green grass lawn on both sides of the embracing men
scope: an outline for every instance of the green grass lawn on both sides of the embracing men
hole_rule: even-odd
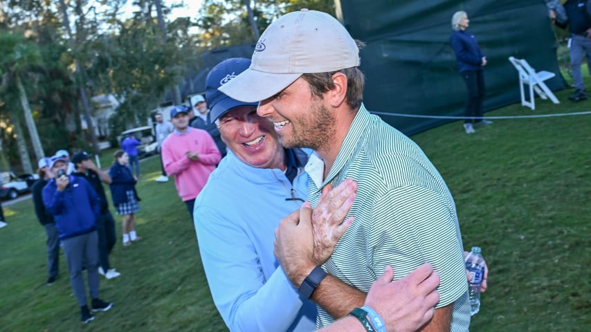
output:
[[[536,100],[536,111],[515,104],[487,116],[591,109],[591,101],[567,100],[569,93],[557,93],[558,105]],[[482,246],[491,268],[472,331],[591,329],[590,132],[587,115],[495,120],[471,135],[453,122],[412,136],[453,193],[464,246]],[[115,306],[87,326],[80,323],[63,256],[60,278],[45,284],[45,234],[33,203],[5,208],[1,331],[226,331],[174,183],[154,182],[157,158],[141,168],[136,220],[144,239],[130,248],[118,240],[111,264],[122,275],[101,279],[100,289]]]

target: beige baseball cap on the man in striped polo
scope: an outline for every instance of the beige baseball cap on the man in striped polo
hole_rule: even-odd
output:
[[[287,88],[304,73],[327,73],[359,64],[359,48],[339,21],[325,12],[302,9],[266,28],[251,66],[219,91],[242,102],[258,102]]]

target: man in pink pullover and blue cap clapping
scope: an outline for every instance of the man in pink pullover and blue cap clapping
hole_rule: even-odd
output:
[[[183,105],[170,111],[174,131],[162,143],[162,163],[193,218],[195,197],[206,185],[221,154],[207,131],[189,127],[189,109]]]

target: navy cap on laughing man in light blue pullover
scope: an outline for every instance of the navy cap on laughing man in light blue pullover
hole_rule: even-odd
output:
[[[206,78],[206,100],[210,107],[211,122],[215,122],[231,109],[239,106],[257,106],[259,102],[239,102],[219,91],[218,88],[233,80],[251,66],[251,60],[242,57],[226,59],[215,66]]]

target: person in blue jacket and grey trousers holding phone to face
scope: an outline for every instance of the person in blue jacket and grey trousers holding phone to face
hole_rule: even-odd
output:
[[[96,219],[100,216],[100,197],[84,178],[66,174],[68,164],[62,156],[53,156],[49,168],[55,178],[43,188],[43,203],[55,219],[68,262],[70,284],[80,306],[82,322],[87,323],[94,317],[87,306],[82,266],[87,270],[92,311],[107,311],[113,305],[98,297]]]

